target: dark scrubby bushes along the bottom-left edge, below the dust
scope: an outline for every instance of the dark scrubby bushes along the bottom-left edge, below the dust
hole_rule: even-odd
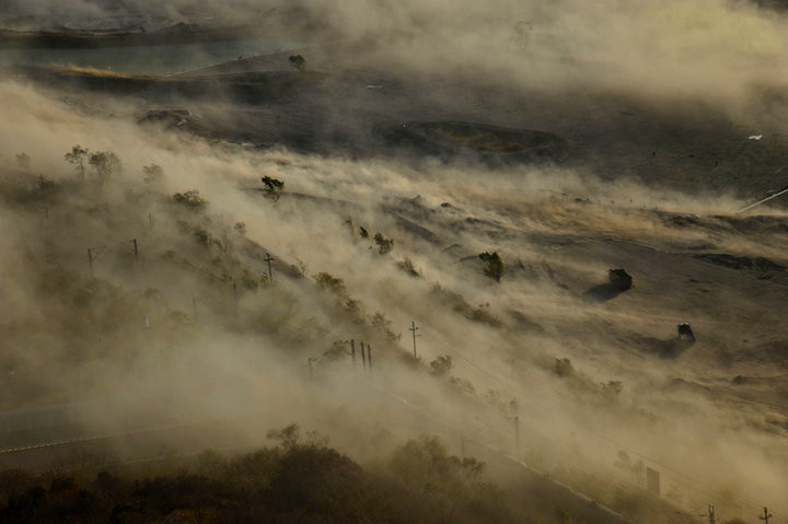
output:
[[[484,464],[437,438],[397,447],[368,468],[290,424],[274,447],[161,458],[108,469],[0,471],[8,523],[549,522],[485,480]]]

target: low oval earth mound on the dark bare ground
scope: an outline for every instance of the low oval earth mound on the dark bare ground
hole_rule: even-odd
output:
[[[564,160],[568,143],[557,135],[465,121],[407,121],[379,125],[387,144],[422,154],[474,155],[485,161]]]

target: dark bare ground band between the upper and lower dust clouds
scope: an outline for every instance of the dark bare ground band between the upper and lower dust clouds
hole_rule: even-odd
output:
[[[138,114],[184,107],[200,116],[184,129],[262,148],[282,144],[354,156],[415,152],[445,160],[459,152],[464,161],[478,158],[478,148],[463,140],[441,145],[434,133],[429,144],[412,137],[401,147],[402,137],[381,132],[407,123],[464,121],[555,136],[567,145],[546,152],[547,160],[606,179],[635,178],[690,194],[734,191],[752,199],[786,185],[780,173],[788,162],[783,153],[788,137],[768,124],[734,124],[721,107],[682,102],[657,109],[616,93],[512,92],[478,79],[457,84],[440,77],[398,75],[324,60],[316,49],[298,51],[310,57],[303,73],[289,68],[288,53],[166,78],[42,68],[19,73],[59,91],[125,96]],[[472,135],[485,129],[478,131]],[[749,140],[753,133],[764,138]]]

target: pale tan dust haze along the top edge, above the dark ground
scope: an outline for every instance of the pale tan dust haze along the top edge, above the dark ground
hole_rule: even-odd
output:
[[[358,63],[401,66],[500,81],[520,89],[610,89],[664,102],[675,96],[732,105],[786,84],[786,19],[723,0],[584,2],[12,2],[8,13],[58,25],[126,14],[175,22],[278,20],[314,35],[362,43]],[[292,13],[298,13],[293,15]],[[50,18],[48,22],[45,22]],[[13,23],[13,20],[10,21]],[[294,27],[293,27],[294,24]],[[317,31],[315,31],[315,27]],[[268,30],[270,31],[270,30]]]

